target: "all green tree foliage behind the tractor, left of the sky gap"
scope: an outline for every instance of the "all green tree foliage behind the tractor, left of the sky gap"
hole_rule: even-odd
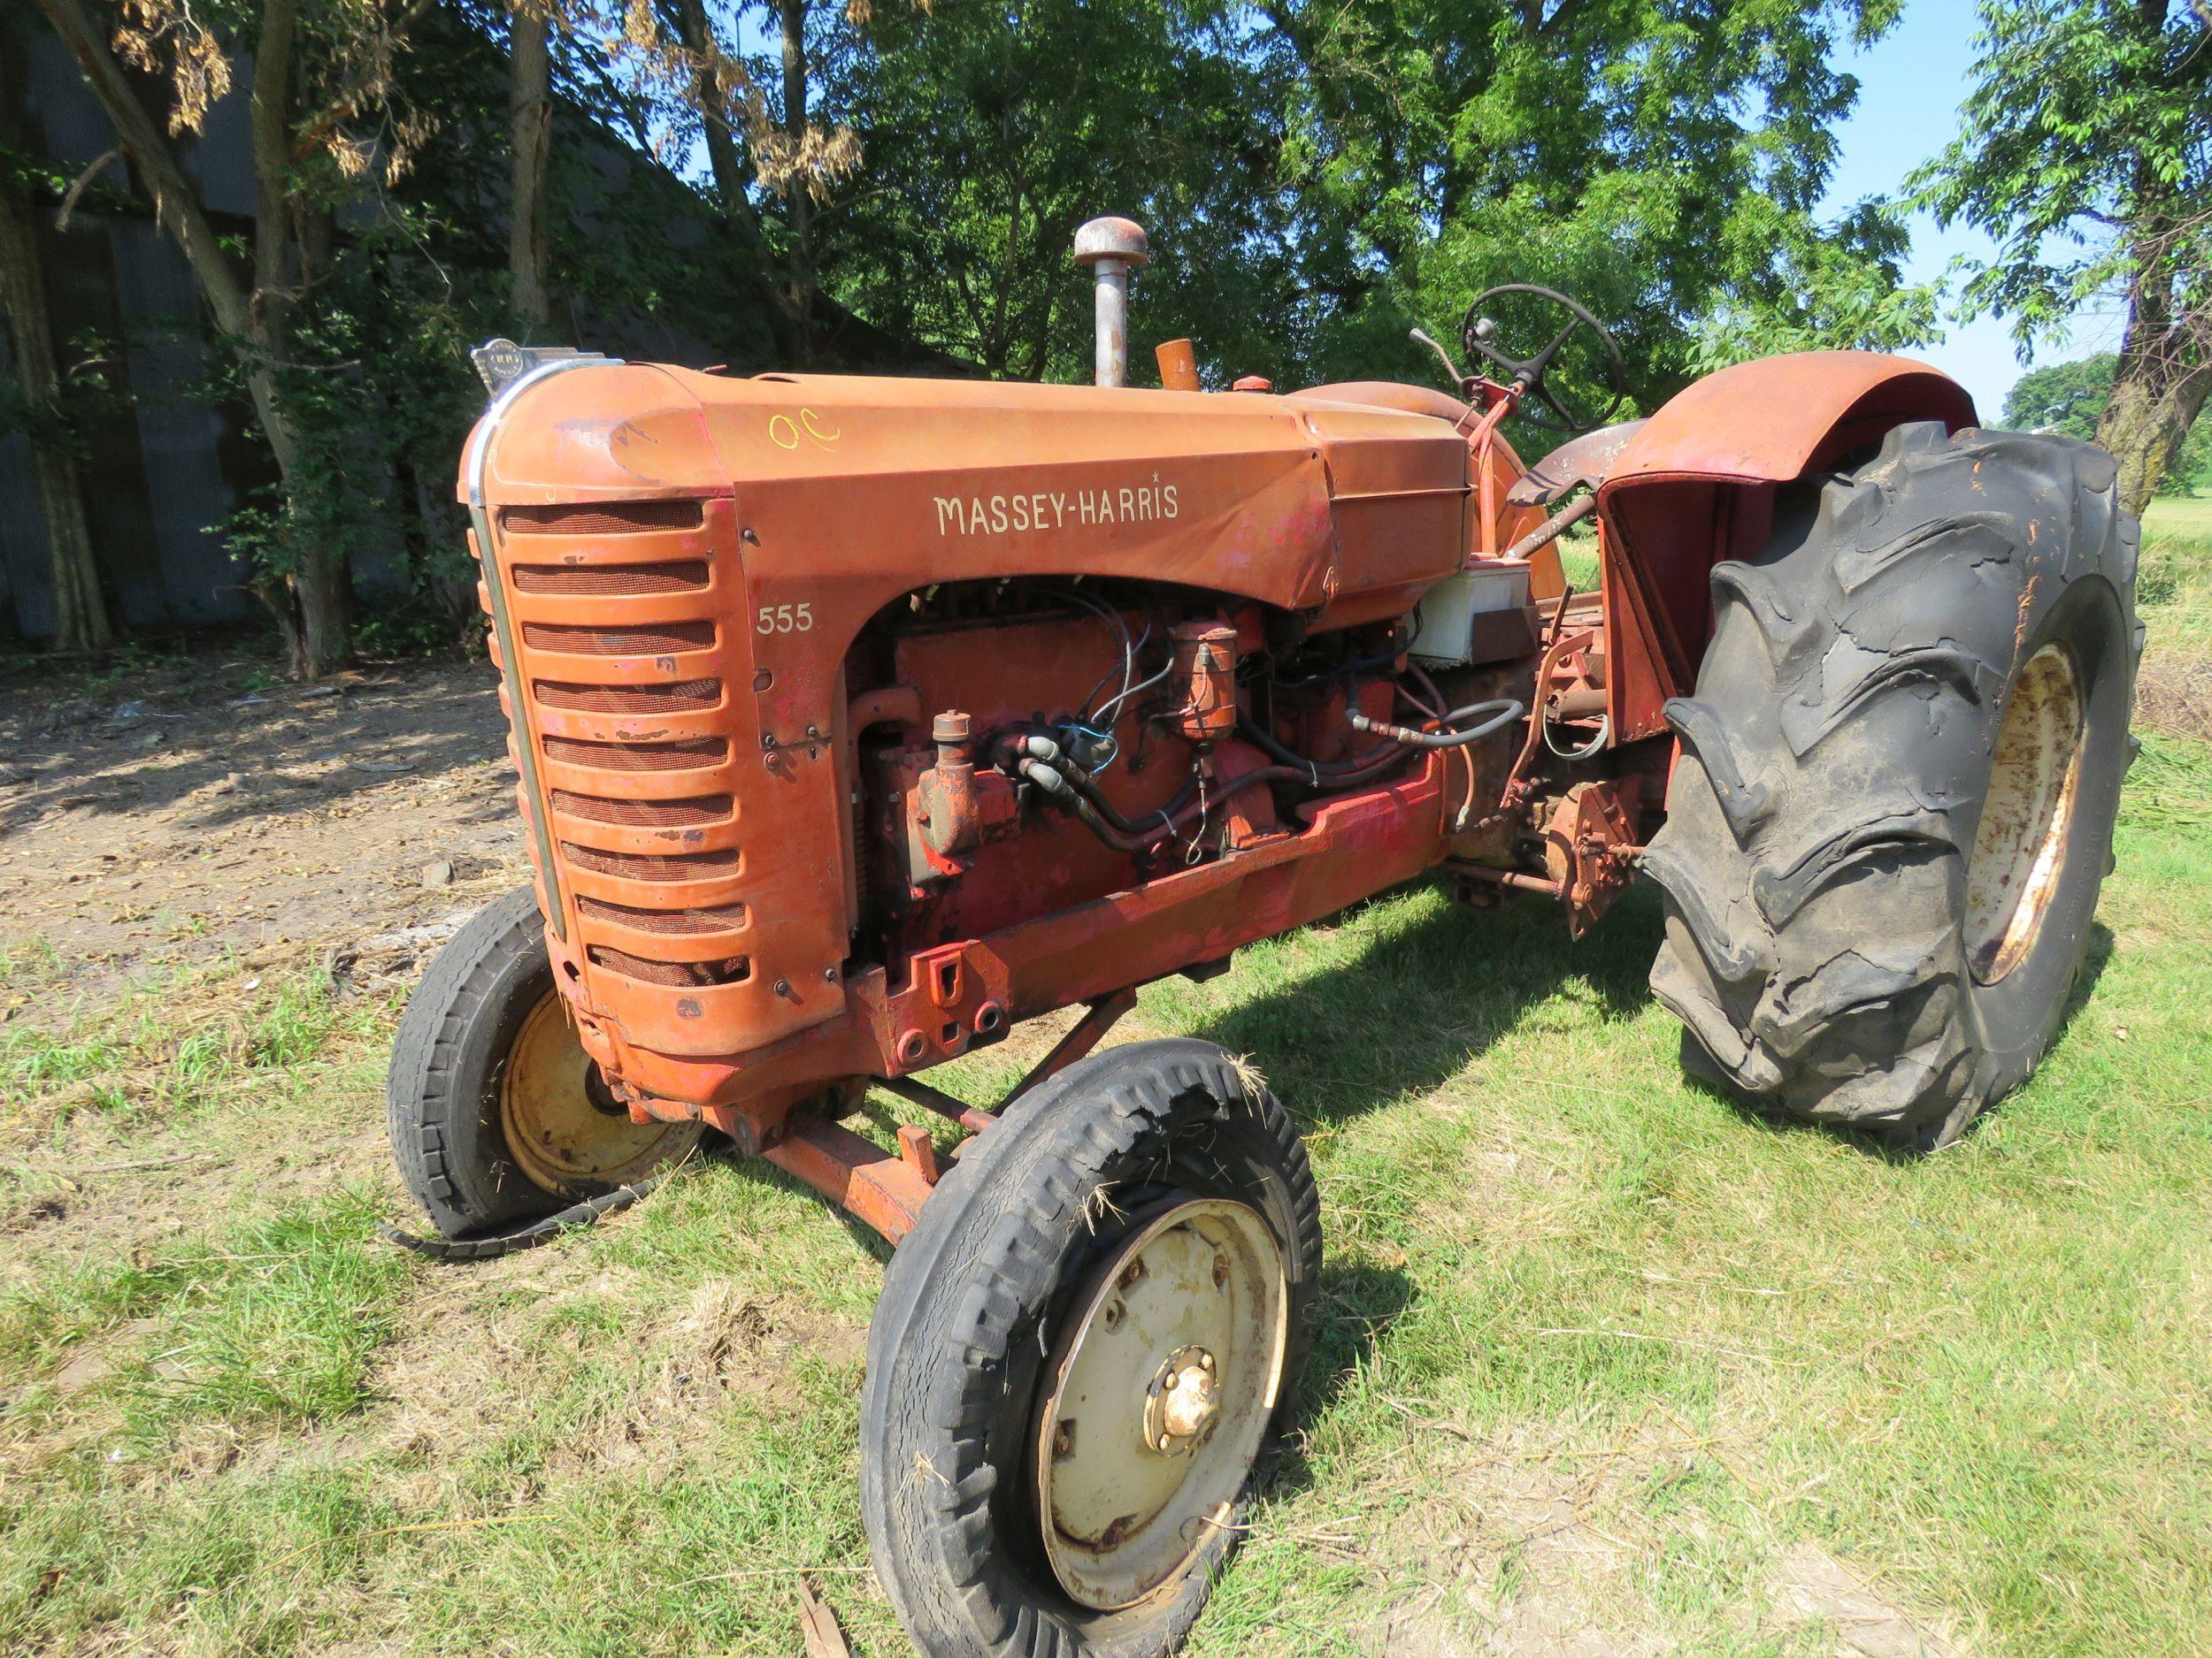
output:
[[[1858,93],[1832,57],[1896,11],[812,0],[792,42],[807,60],[801,111],[785,106],[779,13],[708,0],[743,69],[732,137],[752,183],[734,201],[703,159],[703,71],[668,46],[681,4],[566,0],[551,332],[750,371],[794,365],[799,307],[823,365],[949,354],[1079,380],[1088,292],[1068,241],[1093,214],[1128,212],[1155,248],[1137,285],[1139,380],[1148,347],[1181,334],[1214,385],[1427,380],[1407,329],[1449,338],[1502,281],[1590,303],[1646,407],[1741,356],[1911,345],[1936,332],[1936,294],[1900,283],[1902,219],[1882,201],[1816,214]],[[246,64],[257,20],[223,0],[192,27]],[[325,555],[403,570],[403,597],[365,619],[369,650],[469,632],[451,475],[482,407],[467,347],[513,332],[507,27],[493,0],[303,7],[281,347],[208,351],[226,411],[252,407],[248,376],[265,369],[296,427],[281,484],[223,526],[248,581],[281,592]],[[641,46],[655,27],[659,44]],[[316,111],[352,108],[347,88],[369,113],[334,128]],[[776,146],[796,119],[856,146],[858,168],[792,183]],[[51,188],[60,170],[42,166]],[[246,272],[250,241],[234,254]],[[807,309],[796,294],[812,283]],[[845,327],[845,312],[863,321]],[[1562,371],[1588,391],[1586,358]]]

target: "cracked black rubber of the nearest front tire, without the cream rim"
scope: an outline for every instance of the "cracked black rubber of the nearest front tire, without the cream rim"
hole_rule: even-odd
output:
[[[1290,1278],[1283,1426],[1321,1271],[1318,1198],[1287,1114],[1203,1041],[1071,1066],[945,1174],[869,1324],[863,1519],[878,1578],[931,1658],[1172,1651],[1237,1543],[1219,1532],[1172,1589],[1106,1614],[1068,1601],[1044,1561],[1026,1468],[1035,1395],[1055,1318],[1121,1231],[1086,1220],[1099,1187],[1130,1207],[1168,1187],[1230,1196],[1267,1220]]]

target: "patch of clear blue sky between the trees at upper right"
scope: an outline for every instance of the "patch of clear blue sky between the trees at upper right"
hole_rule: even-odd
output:
[[[1905,0],[1905,15],[1889,35],[1840,60],[1858,75],[1858,108],[1840,128],[1843,157],[1827,195],[1832,212],[1871,195],[1893,195],[1907,172],[1951,139],[1973,66],[1973,0]],[[1933,281],[1955,254],[1986,254],[1989,248],[1986,237],[1964,225],[1942,230],[1920,214],[1913,219],[1907,274]],[[2039,347],[2033,363],[2062,363],[2117,343],[2117,316],[2084,316],[2070,340]],[[2022,374],[2004,318],[1995,316],[1978,323],[1947,318],[1944,340],[1916,356],[1955,376],[1984,420],[2002,413],[2004,393]]]

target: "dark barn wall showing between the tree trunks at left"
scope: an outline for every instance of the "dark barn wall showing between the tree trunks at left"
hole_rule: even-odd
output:
[[[29,44],[31,141],[42,141],[44,153],[64,168],[80,170],[115,146],[115,133],[60,42],[35,35]],[[493,42],[465,35],[460,51],[480,55],[487,77],[504,77],[504,57]],[[208,111],[206,133],[197,141],[179,141],[179,155],[201,181],[217,230],[246,230],[252,223],[250,84],[252,62],[241,57],[232,64],[230,95]],[[608,281],[606,272],[564,270],[555,261],[551,276],[557,303],[549,343],[661,363],[723,363],[734,371],[772,367],[765,321],[752,314],[750,301],[714,254],[723,230],[712,210],[668,172],[639,161],[588,113],[562,104],[557,124],[557,144],[580,164],[568,201],[575,243],[666,250],[677,259],[690,254],[692,263],[681,281],[661,274],[644,283],[670,292],[655,292],[637,307],[606,307],[584,294],[622,292],[619,276]],[[102,179],[124,186],[122,166],[111,164]],[[504,164],[487,177],[484,188],[493,203],[504,195]],[[495,208],[493,214],[498,217]],[[498,234],[504,245],[504,228]],[[230,559],[219,526],[257,489],[274,484],[276,471],[268,451],[248,433],[241,409],[221,409],[192,396],[192,385],[204,374],[208,336],[184,254],[148,212],[117,210],[113,197],[102,206],[97,192],[80,201],[66,232],[42,217],[40,239],[62,363],[77,358],[77,334],[126,340],[122,360],[108,365],[108,380],[119,396],[84,422],[91,447],[86,508],[93,557],[115,615],[135,628],[259,617],[259,601],[239,586],[248,573]],[[0,365],[9,365],[11,356],[4,334],[0,329]],[[467,369],[456,365],[456,374]],[[465,429],[453,431],[456,464],[465,438]],[[407,581],[398,537],[389,546],[356,553],[354,588],[365,599],[405,595]],[[22,433],[0,433],[0,632],[11,612],[22,637],[53,637],[44,522],[31,444]]]

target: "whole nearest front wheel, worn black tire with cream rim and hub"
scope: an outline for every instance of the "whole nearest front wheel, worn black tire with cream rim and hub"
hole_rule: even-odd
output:
[[[1175,1651],[1237,1545],[1318,1271],[1296,1130],[1210,1043],[1095,1054],[984,1130],[891,1256],[867,1342],[860,1512],[916,1645]]]

